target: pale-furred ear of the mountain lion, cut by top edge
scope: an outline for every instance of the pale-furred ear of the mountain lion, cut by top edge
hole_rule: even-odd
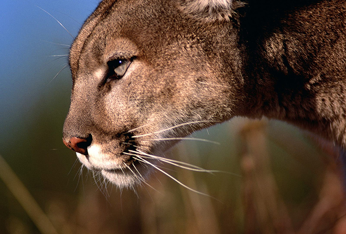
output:
[[[181,9],[194,18],[228,20],[234,10],[245,5],[239,0],[180,0]]]

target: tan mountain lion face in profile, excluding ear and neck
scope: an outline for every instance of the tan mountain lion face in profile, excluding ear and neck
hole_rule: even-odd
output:
[[[193,20],[175,1],[101,2],[71,49],[65,142],[89,169],[132,185],[131,170],[147,174],[133,151],[158,154],[177,141],[167,138],[236,111],[243,81],[229,36],[235,43],[236,29]]]

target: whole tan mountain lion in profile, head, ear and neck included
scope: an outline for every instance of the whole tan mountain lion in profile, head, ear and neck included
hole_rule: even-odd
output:
[[[63,142],[120,187],[234,116],[346,147],[346,0],[103,0],[69,61]]]

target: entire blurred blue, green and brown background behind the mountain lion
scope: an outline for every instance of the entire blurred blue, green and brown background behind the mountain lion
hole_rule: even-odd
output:
[[[219,144],[183,141],[166,153],[228,172],[162,165],[209,196],[158,171],[135,191],[81,171],[61,141],[72,85],[63,68],[97,4],[0,1],[0,234],[345,233],[336,151],[282,122],[233,119],[193,134]]]

